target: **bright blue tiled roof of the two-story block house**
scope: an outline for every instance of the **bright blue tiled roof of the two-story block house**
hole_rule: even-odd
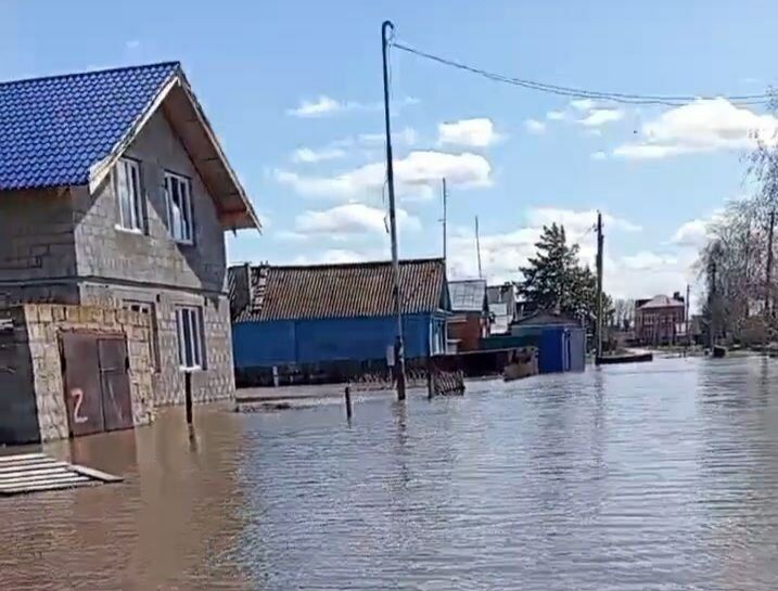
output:
[[[178,62],[0,83],[0,191],[86,184]]]

